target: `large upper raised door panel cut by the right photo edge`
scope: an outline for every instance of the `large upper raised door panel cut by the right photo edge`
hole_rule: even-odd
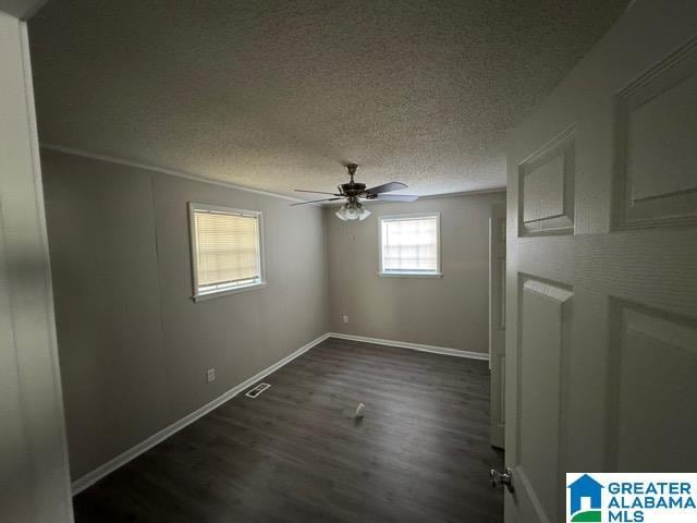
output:
[[[697,39],[617,95],[619,228],[697,222]]]

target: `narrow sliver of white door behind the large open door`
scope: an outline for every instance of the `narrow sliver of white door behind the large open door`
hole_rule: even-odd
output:
[[[489,419],[493,447],[503,448],[505,429],[505,205],[491,206],[489,218]]]

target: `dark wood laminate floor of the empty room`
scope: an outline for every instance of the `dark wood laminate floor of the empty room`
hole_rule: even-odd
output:
[[[329,339],[264,381],[76,496],[77,522],[503,521],[486,362]]]

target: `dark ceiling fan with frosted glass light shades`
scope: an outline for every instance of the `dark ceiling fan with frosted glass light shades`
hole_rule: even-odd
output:
[[[399,191],[401,188],[406,188],[407,185],[402,182],[389,182],[383,183],[382,185],[377,185],[375,187],[366,188],[365,183],[358,183],[354,181],[353,177],[356,175],[356,170],[358,166],[356,163],[346,163],[344,166],[346,171],[348,171],[348,175],[351,177],[351,181],[348,183],[342,183],[337,188],[338,193],[326,193],[323,191],[306,191],[303,188],[296,188],[298,193],[315,193],[315,194],[328,194],[331,195],[331,198],[321,198],[321,199],[313,199],[310,202],[301,202],[292,205],[305,205],[305,204],[316,204],[319,202],[334,202],[337,199],[346,199],[346,203],[341,206],[341,208],[337,211],[337,217],[344,220],[365,220],[368,216],[370,216],[370,211],[366,209],[362,200],[378,200],[378,202],[415,202],[418,199],[418,196],[412,196],[408,194],[384,194],[391,193],[392,191]]]

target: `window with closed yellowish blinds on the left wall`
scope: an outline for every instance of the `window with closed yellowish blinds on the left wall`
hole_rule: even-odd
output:
[[[261,212],[189,204],[194,300],[264,285]]]

